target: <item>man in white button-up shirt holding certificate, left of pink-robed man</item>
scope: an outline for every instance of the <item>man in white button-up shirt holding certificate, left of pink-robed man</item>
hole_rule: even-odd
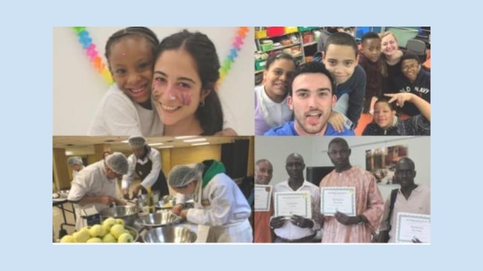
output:
[[[274,217],[270,227],[275,233],[275,243],[311,242],[319,224],[312,214],[320,212],[320,192],[317,186],[305,181],[305,163],[299,154],[290,154],[285,163],[288,181],[273,188]]]

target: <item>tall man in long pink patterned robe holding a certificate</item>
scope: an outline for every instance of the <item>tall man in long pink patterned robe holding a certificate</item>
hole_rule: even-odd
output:
[[[351,149],[344,139],[333,139],[328,154],[335,170],[320,182],[321,213],[315,215],[324,229],[322,242],[370,242],[383,210],[376,180],[350,164]]]

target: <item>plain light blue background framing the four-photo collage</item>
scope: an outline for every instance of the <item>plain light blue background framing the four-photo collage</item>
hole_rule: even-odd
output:
[[[480,268],[474,264],[481,257],[481,8],[466,1],[205,2],[3,2],[3,269]],[[432,244],[52,245],[52,27],[247,24],[432,27]]]

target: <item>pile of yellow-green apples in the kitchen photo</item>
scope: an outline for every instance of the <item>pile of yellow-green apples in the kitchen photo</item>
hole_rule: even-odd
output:
[[[109,217],[102,224],[84,227],[65,235],[61,243],[132,243],[134,237],[124,228],[124,220]]]

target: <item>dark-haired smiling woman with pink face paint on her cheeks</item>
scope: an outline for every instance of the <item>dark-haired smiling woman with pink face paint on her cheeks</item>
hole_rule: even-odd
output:
[[[184,30],[159,44],[152,97],[164,135],[213,135],[222,130],[215,91],[219,68],[215,46],[204,34]]]

